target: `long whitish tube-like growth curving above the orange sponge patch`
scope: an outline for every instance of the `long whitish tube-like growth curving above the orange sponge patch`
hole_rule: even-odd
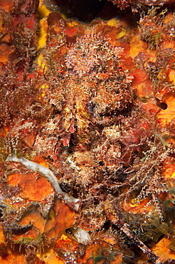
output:
[[[43,176],[46,177],[46,179],[48,181],[51,182],[53,188],[55,189],[56,193],[64,193],[65,196],[65,200],[67,200],[69,203],[75,203],[74,205],[74,209],[78,210],[79,207],[79,199],[74,198],[73,196],[68,196],[68,193],[65,193],[61,190],[60,185],[58,183],[58,179],[56,178],[56,176],[53,174],[53,172],[51,170],[49,170],[48,168],[42,166],[41,164],[38,164],[36,162],[33,161],[28,161],[26,158],[20,157],[17,158],[16,154],[10,154],[7,158],[6,161],[15,161],[15,162],[20,162],[22,163],[24,166],[26,166],[26,168],[31,169],[32,171],[35,172],[39,172],[42,173]]]

